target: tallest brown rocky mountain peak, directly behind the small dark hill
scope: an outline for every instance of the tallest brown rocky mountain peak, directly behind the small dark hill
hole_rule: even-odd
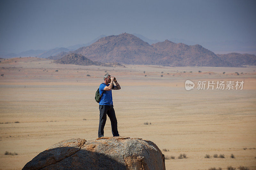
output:
[[[154,58],[158,56],[154,54],[156,49],[153,46],[127,33],[100,38],[92,45],[74,52],[93,61],[123,64],[155,64]]]

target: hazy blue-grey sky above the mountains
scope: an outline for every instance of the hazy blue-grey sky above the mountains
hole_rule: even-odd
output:
[[[256,41],[255,0],[0,0],[0,53],[137,33],[193,42]]]

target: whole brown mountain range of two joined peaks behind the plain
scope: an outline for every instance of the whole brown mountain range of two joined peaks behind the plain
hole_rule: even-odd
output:
[[[104,63],[118,62],[163,66],[241,66],[239,60],[231,62],[225,58],[220,58],[198,44],[186,45],[165,40],[149,45],[140,38],[127,33],[100,38],[97,42],[73,52],[82,54],[92,61]],[[63,55],[59,54],[52,59],[61,58]]]

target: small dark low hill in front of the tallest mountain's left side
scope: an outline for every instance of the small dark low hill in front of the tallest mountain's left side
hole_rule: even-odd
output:
[[[54,63],[57,64],[75,64],[75,65],[81,65],[81,66],[107,66],[107,67],[112,67],[112,66],[123,66],[119,63],[101,63],[97,61],[92,61],[86,57],[84,57],[81,54],[76,54],[76,53],[69,53],[65,55],[64,57],[57,59],[54,61]],[[124,66],[123,66],[124,67]]]

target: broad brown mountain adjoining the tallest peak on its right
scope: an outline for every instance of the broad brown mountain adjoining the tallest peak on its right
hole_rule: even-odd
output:
[[[219,58],[212,51],[199,44],[186,45],[165,40],[152,44],[152,46],[157,49],[158,53],[164,55],[163,58],[158,59],[158,63],[162,65],[168,63],[172,66],[238,66]]]

